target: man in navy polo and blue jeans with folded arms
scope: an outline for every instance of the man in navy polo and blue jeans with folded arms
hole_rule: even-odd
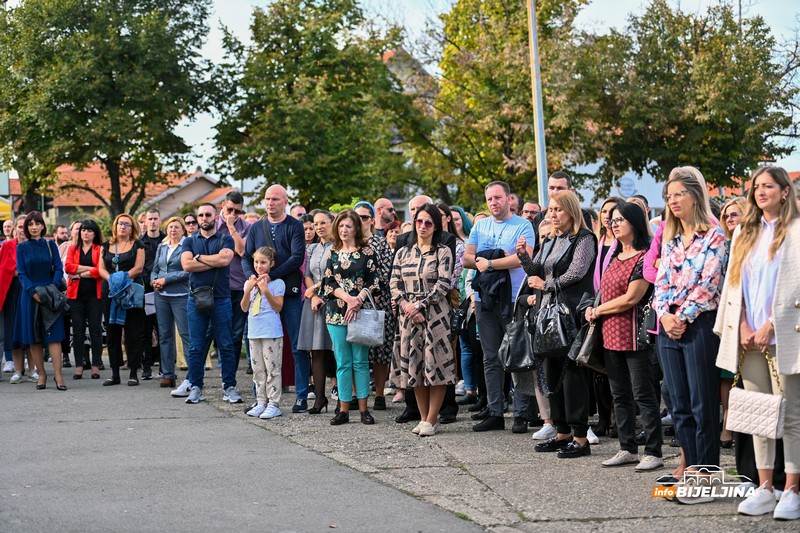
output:
[[[187,315],[189,316],[189,354],[186,362],[189,374],[186,380],[191,389],[186,391],[186,382],[172,391],[173,396],[188,396],[186,403],[198,403],[203,397],[203,376],[205,375],[206,331],[209,324],[214,331],[219,359],[222,362],[223,401],[241,403],[242,397],[236,391],[236,354],[233,353],[233,332],[231,329],[231,290],[230,263],[234,254],[233,239],[217,232],[214,204],[203,204],[197,209],[200,231],[183,241],[181,265],[189,272],[189,287],[192,291],[199,287],[214,288],[214,308],[200,311],[195,298],[189,294]],[[184,392],[188,392],[185,394]]]

